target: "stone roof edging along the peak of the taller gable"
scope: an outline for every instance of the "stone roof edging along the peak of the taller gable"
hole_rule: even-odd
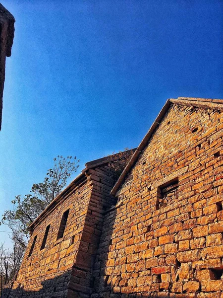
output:
[[[115,196],[116,192],[118,191],[119,187],[121,186],[122,182],[124,181],[126,175],[130,172],[131,168],[134,166],[140,153],[142,150],[147,146],[152,134],[155,132],[157,127],[160,125],[161,121],[163,120],[164,115],[166,114],[167,110],[169,109],[170,105],[179,104],[179,105],[186,105],[186,106],[195,106],[198,108],[205,108],[205,109],[216,109],[216,110],[223,110],[223,99],[210,99],[210,98],[194,98],[194,97],[178,97],[177,99],[169,98],[167,102],[163,106],[162,110],[160,111],[159,115],[157,116],[156,120],[152,124],[151,128],[147,132],[146,136],[143,138],[142,142],[139,144],[138,148],[135,150],[134,154],[132,155],[131,159],[127,163],[126,167],[124,168],[123,172],[119,176],[117,182],[115,183],[114,187],[111,190],[111,195]]]

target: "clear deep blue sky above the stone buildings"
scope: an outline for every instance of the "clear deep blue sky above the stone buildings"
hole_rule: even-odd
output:
[[[16,23],[0,132],[0,214],[43,180],[57,154],[76,155],[83,168],[137,147],[167,98],[223,98],[222,0],[1,3]],[[7,239],[0,232],[10,246]]]

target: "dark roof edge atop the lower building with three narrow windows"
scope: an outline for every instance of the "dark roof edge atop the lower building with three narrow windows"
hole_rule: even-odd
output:
[[[128,151],[135,151],[136,148],[127,150]],[[112,160],[118,160],[120,157],[121,152],[112,154]],[[95,168],[97,166],[109,163],[110,158],[109,156],[105,156],[103,158],[95,159],[85,163],[85,168],[81,171],[81,173],[63,190],[60,194],[47,206],[47,208],[38,216],[38,218],[29,226],[29,230],[33,230],[34,227],[43,221],[47,217],[47,215],[53,211],[57,204],[59,204],[62,200],[66,199],[67,195],[70,194],[76,187],[80,187],[87,181],[86,172],[89,169]]]

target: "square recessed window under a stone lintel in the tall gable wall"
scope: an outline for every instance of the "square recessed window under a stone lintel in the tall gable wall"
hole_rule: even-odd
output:
[[[164,208],[178,199],[178,178],[172,179],[169,182],[158,187],[157,192],[157,207]]]

